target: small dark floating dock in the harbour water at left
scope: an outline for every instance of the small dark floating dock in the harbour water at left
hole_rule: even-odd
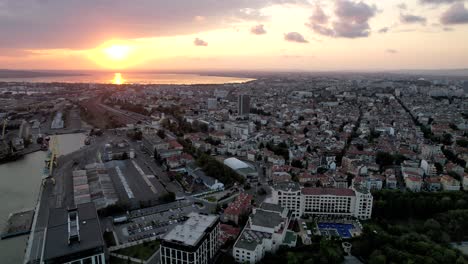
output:
[[[1,234],[1,239],[26,235],[31,232],[31,224],[34,217],[34,210],[22,210],[10,214],[7,224]]]

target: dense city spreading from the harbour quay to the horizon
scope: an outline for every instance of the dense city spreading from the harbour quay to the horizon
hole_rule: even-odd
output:
[[[0,158],[48,153],[2,238],[25,263],[468,261],[467,81],[249,77],[2,83]]]

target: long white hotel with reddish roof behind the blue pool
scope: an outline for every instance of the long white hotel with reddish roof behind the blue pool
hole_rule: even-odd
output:
[[[335,215],[370,219],[372,194],[365,188],[301,187],[285,182],[273,186],[271,203],[293,211],[294,217],[303,215]]]

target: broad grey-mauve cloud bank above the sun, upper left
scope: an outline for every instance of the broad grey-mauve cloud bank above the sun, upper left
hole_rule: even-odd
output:
[[[305,2],[0,0],[0,47],[81,49],[109,39],[193,34],[235,21],[265,19],[260,10],[273,4]],[[197,17],[204,19],[196,22]]]

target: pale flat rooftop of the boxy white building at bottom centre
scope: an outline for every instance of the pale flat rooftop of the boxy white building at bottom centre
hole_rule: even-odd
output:
[[[175,226],[163,239],[195,246],[203,238],[206,230],[218,219],[216,215],[202,215],[194,212],[190,213],[188,217],[187,221]]]

